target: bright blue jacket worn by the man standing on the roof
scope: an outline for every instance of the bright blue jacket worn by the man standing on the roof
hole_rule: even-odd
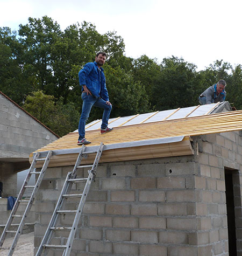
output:
[[[80,86],[86,85],[92,96],[95,98],[101,97],[105,101],[109,101],[108,90],[106,89],[106,79],[103,68],[97,66],[96,61],[87,63],[79,71]],[[83,87],[82,87],[83,91]]]

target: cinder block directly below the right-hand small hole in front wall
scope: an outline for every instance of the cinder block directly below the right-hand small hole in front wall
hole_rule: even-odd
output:
[[[186,187],[184,177],[160,177],[157,178],[157,188],[159,189],[182,189]]]

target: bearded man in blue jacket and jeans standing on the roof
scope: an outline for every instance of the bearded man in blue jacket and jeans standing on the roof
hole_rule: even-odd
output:
[[[103,108],[101,134],[110,132],[108,127],[109,116],[112,105],[109,101],[109,94],[106,89],[106,80],[103,73],[103,64],[106,60],[105,52],[98,52],[93,63],[87,63],[79,71],[79,84],[82,86],[82,114],[79,121],[79,139],[77,144],[89,144],[85,139],[85,126],[92,106]]]

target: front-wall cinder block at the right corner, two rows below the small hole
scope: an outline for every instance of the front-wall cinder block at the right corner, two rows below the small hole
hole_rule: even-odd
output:
[[[194,190],[170,190],[166,192],[167,202],[194,202]]]

